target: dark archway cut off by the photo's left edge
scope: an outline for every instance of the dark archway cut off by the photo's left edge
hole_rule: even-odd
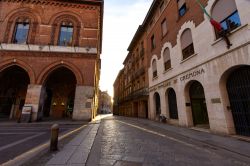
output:
[[[0,72],[0,118],[20,117],[29,83],[28,73],[17,65]]]

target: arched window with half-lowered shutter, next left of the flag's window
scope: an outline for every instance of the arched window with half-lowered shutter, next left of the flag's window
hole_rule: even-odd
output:
[[[194,54],[194,44],[190,29],[185,30],[181,35],[181,49],[183,60]]]

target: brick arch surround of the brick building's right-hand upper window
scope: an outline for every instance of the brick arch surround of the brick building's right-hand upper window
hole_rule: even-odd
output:
[[[72,13],[72,12],[61,12],[51,18],[49,24],[52,25],[51,31],[51,39],[50,43],[52,45],[57,45],[59,33],[60,33],[60,26],[62,22],[71,22],[74,27],[73,31],[73,46],[79,46],[79,36],[81,30],[81,18],[80,16]]]

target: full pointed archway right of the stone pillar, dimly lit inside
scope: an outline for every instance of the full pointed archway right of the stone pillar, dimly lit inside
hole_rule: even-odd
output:
[[[74,73],[66,67],[56,68],[48,74],[43,85],[43,117],[72,118],[76,83]]]

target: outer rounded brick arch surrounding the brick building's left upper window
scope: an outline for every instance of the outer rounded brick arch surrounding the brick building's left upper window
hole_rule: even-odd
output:
[[[38,29],[38,25],[41,23],[41,17],[30,8],[16,9],[8,14],[5,18],[7,26],[5,29],[4,42],[10,43],[14,33],[15,22],[19,18],[28,18],[30,20],[30,30],[28,36],[28,43],[35,43],[35,36]]]

